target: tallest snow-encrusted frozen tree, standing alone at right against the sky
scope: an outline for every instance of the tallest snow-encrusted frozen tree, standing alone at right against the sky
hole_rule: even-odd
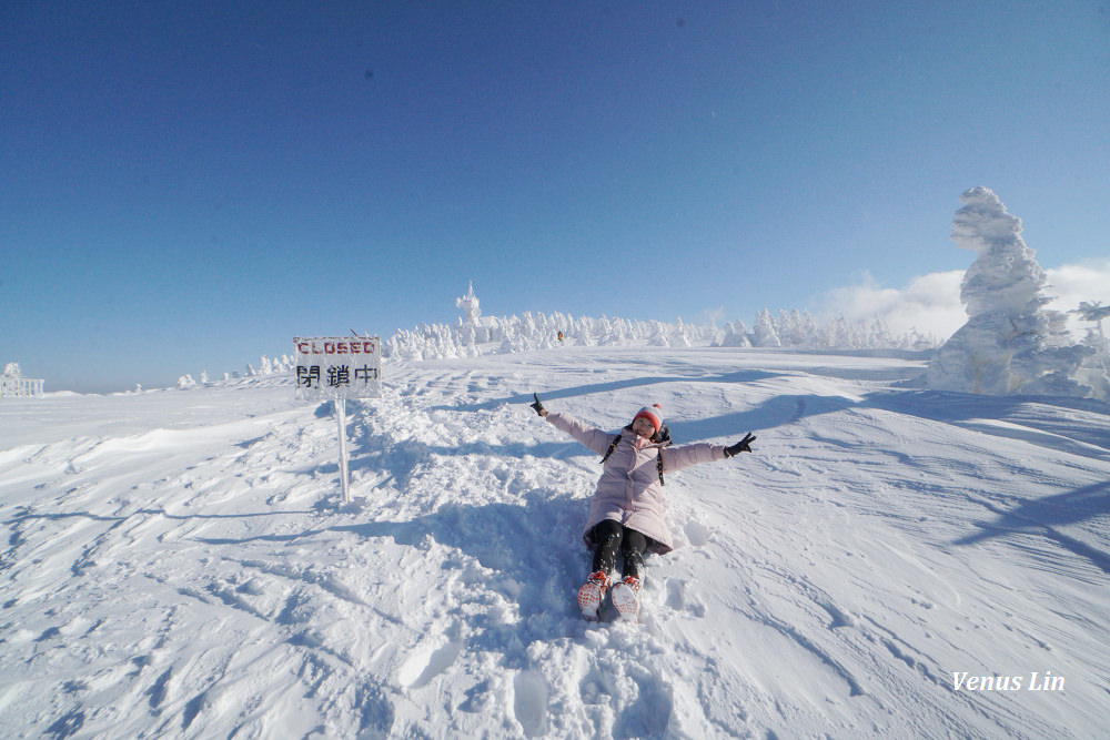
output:
[[[1021,220],[993,192],[973,187],[952,219],[952,241],[978,259],[963,275],[968,322],[929,363],[931,388],[987,395],[1093,395],[1077,381],[1090,349],[1076,345],[1064,315],[1045,308],[1045,271],[1021,239]]]

